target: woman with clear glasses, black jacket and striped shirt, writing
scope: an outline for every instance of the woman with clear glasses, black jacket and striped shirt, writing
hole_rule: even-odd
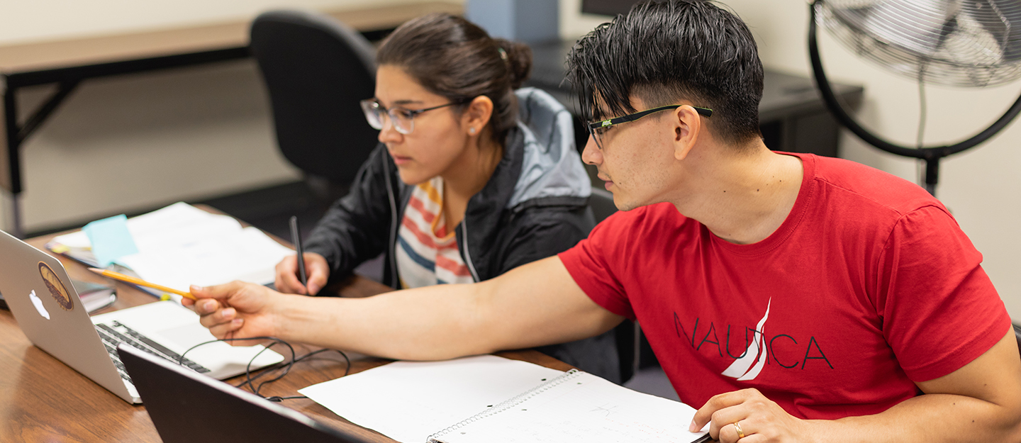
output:
[[[361,105],[381,143],[307,240],[308,287],[292,256],[277,266],[278,290],[314,295],[380,253],[395,289],[479,282],[588,235],[572,117],[548,94],[518,89],[527,46],[430,14],[394,31],[376,58],[376,97]],[[539,350],[620,380],[613,332]]]

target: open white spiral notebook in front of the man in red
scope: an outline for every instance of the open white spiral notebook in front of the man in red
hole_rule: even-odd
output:
[[[300,392],[402,443],[695,442],[683,403],[492,355],[397,361]]]

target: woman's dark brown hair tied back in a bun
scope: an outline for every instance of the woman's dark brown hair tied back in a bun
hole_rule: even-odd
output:
[[[426,90],[452,102],[484,95],[493,101],[489,127],[503,143],[518,118],[514,90],[532,70],[528,45],[489,37],[456,15],[433,13],[411,19],[387,37],[376,64],[399,66]],[[461,108],[464,109],[464,108]]]

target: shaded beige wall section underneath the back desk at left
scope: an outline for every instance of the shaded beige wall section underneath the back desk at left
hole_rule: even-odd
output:
[[[260,82],[245,60],[83,83],[22,148],[23,226],[295,180],[277,151]],[[48,92],[20,99],[29,105]]]

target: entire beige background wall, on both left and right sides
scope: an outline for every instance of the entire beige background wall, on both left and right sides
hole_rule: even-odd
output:
[[[215,21],[285,3],[353,7],[376,1],[381,0],[7,1],[0,6],[0,43]],[[767,66],[808,75],[805,1],[727,3],[750,24]],[[580,16],[578,5],[579,0],[561,1],[565,37],[603,21]],[[857,59],[825,34],[822,52],[832,77],[865,86],[858,112],[865,126],[893,141],[914,142],[917,85]],[[1018,84],[985,90],[928,87],[926,143],[976,133],[1019,90]],[[1021,319],[1019,144],[1015,122],[985,145],[945,159],[937,193],[985,255],[983,265],[1012,316]],[[853,136],[844,136],[842,150],[846,158],[917,181],[912,160],[881,153]],[[30,230],[297,177],[276,151],[266,98],[249,61],[87,82],[30,140],[25,170]],[[2,208],[9,216],[7,206]]]

